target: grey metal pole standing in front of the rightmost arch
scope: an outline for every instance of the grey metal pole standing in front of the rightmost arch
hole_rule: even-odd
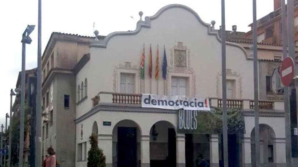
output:
[[[260,125],[259,125],[259,90],[258,90],[258,56],[257,56],[257,7],[256,0],[252,0],[253,8],[253,48],[254,48],[254,134],[256,150],[256,166],[260,166]]]

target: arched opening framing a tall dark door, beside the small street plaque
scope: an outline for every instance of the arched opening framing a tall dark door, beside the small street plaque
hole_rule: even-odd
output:
[[[132,120],[122,120],[113,128],[113,167],[139,167],[141,145],[139,125]]]

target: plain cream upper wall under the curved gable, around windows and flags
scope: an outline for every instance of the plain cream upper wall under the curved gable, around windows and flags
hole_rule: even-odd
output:
[[[217,78],[221,80],[221,43],[214,35],[208,35],[208,28],[203,26],[195,15],[182,8],[165,10],[159,17],[151,20],[151,28],[142,28],[135,35],[114,36],[107,48],[90,48],[91,59],[77,74],[77,83],[88,79],[88,100],[77,107],[77,117],[89,111],[90,98],[100,91],[119,92],[113,90],[113,75],[115,66],[131,62],[139,69],[143,44],[145,44],[145,88],[144,92],[150,92],[150,79],[148,78],[149,46],[152,45],[153,74],[155,73],[156,49],[159,44],[159,68],[162,71],[163,45],[167,53],[167,63],[170,66],[170,56],[177,42],[183,42],[190,53],[190,67],[195,71],[196,90],[189,95],[217,97]],[[241,75],[241,94],[238,98],[253,98],[253,73],[252,61],[246,60],[245,53],[238,47],[227,45],[226,67]],[[116,69],[117,70],[117,69]],[[180,75],[181,72],[176,72]],[[159,94],[164,94],[164,80],[162,72],[159,78]],[[137,79],[137,78],[136,78]],[[116,83],[117,85],[117,83]],[[139,93],[139,87],[135,93]],[[219,88],[221,90],[221,88]],[[240,90],[239,90],[240,91]],[[168,91],[170,92],[170,90]],[[151,93],[157,94],[157,81],[152,79]],[[219,92],[221,94],[221,92]]]

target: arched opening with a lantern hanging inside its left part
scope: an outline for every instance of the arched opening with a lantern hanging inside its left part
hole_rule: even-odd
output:
[[[150,166],[176,166],[176,130],[170,122],[156,122],[150,129]]]

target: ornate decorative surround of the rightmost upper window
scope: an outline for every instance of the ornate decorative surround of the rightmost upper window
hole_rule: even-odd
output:
[[[242,76],[238,74],[236,71],[233,71],[232,69],[226,69],[226,76],[233,76],[233,77],[238,77],[238,85],[239,85],[239,98],[242,98]],[[216,75],[216,94],[217,97],[220,97],[220,78],[221,78],[221,71]]]

